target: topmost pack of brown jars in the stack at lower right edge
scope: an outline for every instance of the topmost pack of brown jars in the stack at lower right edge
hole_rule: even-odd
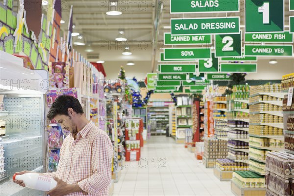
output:
[[[294,155],[286,152],[269,152],[266,157],[266,171],[282,178],[294,177]]]

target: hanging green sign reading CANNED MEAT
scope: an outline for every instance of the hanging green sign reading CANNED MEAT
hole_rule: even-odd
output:
[[[171,35],[164,33],[164,45],[211,44],[211,35]]]

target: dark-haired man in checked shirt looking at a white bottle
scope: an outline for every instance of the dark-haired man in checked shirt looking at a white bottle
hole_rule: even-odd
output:
[[[113,146],[108,135],[89,122],[78,99],[62,95],[50,108],[47,118],[55,119],[68,135],[60,149],[58,169],[44,175],[53,177],[57,186],[50,196],[108,196],[111,181]],[[30,171],[16,173],[21,175]],[[15,180],[25,187],[23,181]]]

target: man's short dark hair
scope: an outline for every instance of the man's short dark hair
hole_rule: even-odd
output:
[[[83,108],[77,98],[69,95],[61,95],[52,104],[47,118],[52,120],[56,115],[68,116],[68,109],[72,108],[77,114],[83,114]]]

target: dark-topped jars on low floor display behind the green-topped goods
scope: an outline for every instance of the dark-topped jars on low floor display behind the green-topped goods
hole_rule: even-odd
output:
[[[248,164],[235,162],[230,159],[217,159],[217,167],[222,171],[248,170]]]

